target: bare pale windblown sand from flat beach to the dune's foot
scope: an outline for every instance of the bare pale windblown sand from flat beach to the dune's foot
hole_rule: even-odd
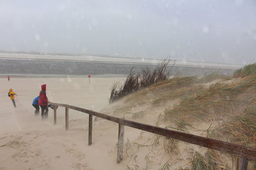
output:
[[[65,108],[58,108],[56,125],[53,110],[50,108],[47,121],[42,121],[40,116],[34,115],[35,109],[31,103],[43,83],[47,84],[49,101],[54,103],[79,106],[151,125],[156,125],[159,114],[179,101],[173,100],[152,107],[147,104],[147,100],[152,102],[154,99],[147,96],[143,99],[146,103],[141,106],[141,96],[132,99],[135,103],[138,101],[135,105],[133,102],[128,102],[130,106],[125,105],[124,100],[109,104],[110,88],[116,81],[124,81],[124,77],[92,77],[89,82],[88,78],[75,76],[12,76],[10,81],[2,76],[0,169],[118,170],[162,167],[168,161],[168,155],[164,152],[159,152],[161,156],[155,157],[150,166],[145,159],[148,154],[154,152],[149,150],[150,145],[144,146],[143,143],[151,142],[155,138],[153,134],[125,127],[124,159],[120,164],[116,164],[117,124],[94,117],[92,145],[88,146],[88,115],[69,110],[68,131],[65,131]],[[12,101],[7,96],[10,88],[19,94],[15,98],[17,108],[13,108]],[[128,98],[129,100],[131,99]],[[180,167],[180,164],[176,162],[173,168],[177,167]]]

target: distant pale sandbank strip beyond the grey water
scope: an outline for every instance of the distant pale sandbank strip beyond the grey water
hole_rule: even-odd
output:
[[[7,57],[8,55],[8,57]],[[62,61],[62,62],[93,62],[93,63],[109,63],[109,64],[144,64],[158,65],[162,60],[159,59],[132,59],[117,57],[96,57],[92,55],[49,55],[49,54],[23,54],[23,53],[0,53],[0,59],[3,60],[42,60],[42,61]],[[174,60],[175,61],[175,60]],[[172,64],[170,64],[172,66]],[[223,69],[239,69],[243,65],[238,64],[222,64],[207,62],[182,62],[175,61],[177,67],[207,67],[207,68],[223,68]]]

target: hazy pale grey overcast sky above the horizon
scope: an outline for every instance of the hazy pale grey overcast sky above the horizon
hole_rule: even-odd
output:
[[[246,64],[255,0],[0,0],[0,50]]]

